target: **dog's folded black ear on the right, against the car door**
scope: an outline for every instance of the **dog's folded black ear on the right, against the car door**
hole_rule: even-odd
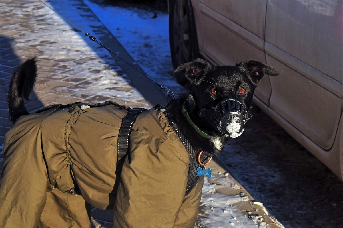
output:
[[[279,71],[274,67],[270,67],[256,60],[246,60],[244,62],[236,64],[236,66],[240,70],[248,72],[250,79],[255,86],[260,82],[264,75],[279,75]]]

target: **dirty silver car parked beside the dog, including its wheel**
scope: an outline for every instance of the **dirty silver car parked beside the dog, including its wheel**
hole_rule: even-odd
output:
[[[202,57],[278,69],[255,104],[343,180],[342,27],[342,0],[169,0],[174,67]]]

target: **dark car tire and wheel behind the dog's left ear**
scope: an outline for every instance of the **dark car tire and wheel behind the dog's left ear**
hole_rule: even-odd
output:
[[[174,69],[199,57],[197,30],[190,0],[171,0],[169,4],[169,43]],[[187,80],[176,75],[181,85]]]

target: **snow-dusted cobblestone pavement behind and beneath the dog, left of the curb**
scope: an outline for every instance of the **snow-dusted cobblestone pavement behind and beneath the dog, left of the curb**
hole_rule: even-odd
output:
[[[89,27],[82,29],[94,32],[104,27],[82,1],[69,2],[64,7],[85,20],[91,18]],[[149,107],[105,49],[87,40],[83,32],[47,6],[37,0],[3,0],[0,12],[0,145],[12,126],[7,105],[10,78],[20,63],[34,56],[39,60],[39,73],[31,100],[26,103],[29,112],[49,104],[79,101],[112,100],[130,107]],[[112,213],[94,208],[93,226],[112,227]]]

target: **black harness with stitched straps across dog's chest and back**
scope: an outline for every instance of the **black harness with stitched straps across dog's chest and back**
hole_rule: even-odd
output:
[[[122,123],[119,129],[119,135],[118,135],[118,145],[117,145],[117,156],[118,156],[118,162],[117,162],[117,172],[120,174],[122,170],[122,165],[128,157],[129,162],[131,162],[130,157],[130,150],[129,150],[129,136],[132,130],[132,125],[135,122],[137,116],[145,111],[145,108],[131,108],[128,109],[128,113],[126,117],[122,119]],[[179,136],[182,144],[184,145],[186,151],[188,152],[190,156],[190,163],[189,163],[189,171],[188,171],[188,180],[187,180],[187,187],[186,187],[186,193],[187,195],[194,186],[198,183],[200,177],[197,175],[197,168],[201,167],[201,165],[197,162],[197,157],[199,152],[194,150],[191,143],[189,142],[188,138],[185,136],[184,133],[182,133],[179,130],[179,127],[177,123],[174,121],[174,119],[171,119],[169,114],[166,112],[170,126],[176,131],[177,135]],[[204,162],[205,160],[208,160],[211,157],[211,155],[207,152],[203,152],[200,156],[200,161]]]

